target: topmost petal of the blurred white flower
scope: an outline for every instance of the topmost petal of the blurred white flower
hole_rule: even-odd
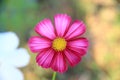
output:
[[[7,53],[16,49],[19,45],[19,39],[14,32],[0,33],[0,54]]]

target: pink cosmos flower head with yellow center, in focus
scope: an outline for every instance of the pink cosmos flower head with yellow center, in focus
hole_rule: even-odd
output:
[[[31,37],[29,47],[38,53],[36,62],[43,68],[52,68],[63,73],[68,64],[75,66],[81,61],[88,48],[88,40],[80,37],[86,30],[82,21],[76,20],[70,25],[71,17],[57,14],[55,26],[50,19],[44,19],[35,26],[40,36]]]

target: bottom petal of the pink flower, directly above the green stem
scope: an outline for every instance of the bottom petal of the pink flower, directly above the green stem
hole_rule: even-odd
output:
[[[63,73],[67,70],[68,67],[62,53],[56,53],[51,68],[60,73]]]

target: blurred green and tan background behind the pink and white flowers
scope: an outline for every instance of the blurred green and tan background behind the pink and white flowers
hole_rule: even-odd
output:
[[[83,20],[90,41],[81,63],[56,80],[120,80],[120,0],[0,0],[0,32],[16,32],[31,55],[30,64],[21,69],[25,80],[51,80],[52,70],[36,65],[27,41],[36,35],[40,20],[53,20],[56,13]]]

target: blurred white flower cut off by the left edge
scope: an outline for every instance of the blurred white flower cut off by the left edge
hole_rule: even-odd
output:
[[[18,69],[29,63],[26,49],[17,48],[19,39],[13,32],[0,33],[0,80],[24,80]]]

